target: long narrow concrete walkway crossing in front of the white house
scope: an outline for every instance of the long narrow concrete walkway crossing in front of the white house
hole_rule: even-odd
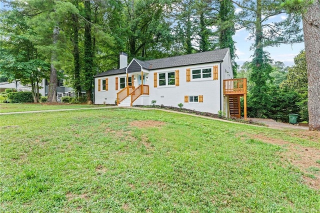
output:
[[[135,106],[102,106],[102,107],[90,107],[90,108],[65,108],[65,109],[47,109],[47,110],[36,110],[36,111],[15,111],[15,112],[1,112],[0,115],[4,114],[25,114],[25,113],[41,113],[41,112],[52,112],[52,111],[71,111],[71,110],[86,110],[86,109],[105,109],[105,108],[133,108],[133,109],[138,109],[138,110],[160,110],[160,111],[165,111],[165,112],[171,112],[171,113],[178,113],[178,114],[185,114],[189,116],[195,116],[195,117],[201,117],[205,119],[211,119],[211,120],[219,120],[222,122],[229,122],[229,123],[236,123],[236,124],[244,124],[244,125],[251,125],[251,126],[257,126],[254,124],[250,123],[241,123],[241,122],[235,122],[231,120],[224,120],[224,119],[218,119],[214,117],[208,117],[208,116],[203,116],[203,115],[198,115],[198,114],[190,114],[182,111],[174,111],[174,110],[168,110],[168,109],[162,109],[162,108],[144,108],[144,107],[135,107]],[[252,120],[253,122],[259,122],[259,123],[264,123],[267,126],[260,126],[260,127],[269,127],[269,128],[276,128],[276,129],[283,129],[283,128],[295,128],[295,129],[304,129],[308,130],[307,126],[298,126],[298,125],[292,125],[292,124],[287,124],[287,123],[281,123],[281,122],[276,122],[272,119],[263,119],[263,118],[248,118]]]

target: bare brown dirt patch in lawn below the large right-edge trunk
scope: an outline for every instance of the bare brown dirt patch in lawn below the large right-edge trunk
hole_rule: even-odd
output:
[[[309,132],[309,131],[299,131],[290,132],[294,134],[295,137],[301,138],[314,138],[314,141],[318,141],[318,134],[320,132]],[[243,139],[250,138],[258,139],[266,143],[271,143],[275,145],[280,145],[287,151],[280,152],[280,156],[288,160],[289,163],[298,167],[302,171],[304,181],[312,188],[320,189],[320,149],[314,147],[306,147],[298,144],[293,144],[282,139],[276,139],[267,137],[260,134],[247,134],[239,135]]]

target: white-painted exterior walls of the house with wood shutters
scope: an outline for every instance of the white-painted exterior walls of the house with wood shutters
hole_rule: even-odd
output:
[[[213,80],[213,66],[218,66],[218,80]],[[220,69],[221,65],[221,69]],[[201,68],[201,67],[210,67],[212,69],[212,76],[210,78],[201,78],[201,79],[192,79],[192,69]],[[190,68],[190,82],[186,82],[186,69]],[[179,70],[179,86],[169,85],[169,86],[159,86],[159,72],[175,71]],[[220,76],[220,70],[222,72],[222,78]],[[229,72],[229,75],[226,72]],[[153,73],[157,72],[157,87],[153,86]],[[132,73],[129,73],[129,76]],[[134,73],[135,75],[137,73]],[[197,111],[217,113],[218,110],[225,109],[225,100],[223,98],[223,88],[222,84],[223,79],[232,78],[232,66],[229,60],[229,53],[226,54],[225,60],[223,62],[212,62],[206,64],[195,64],[187,65],[180,67],[172,68],[163,68],[150,70],[147,73],[144,70],[143,74],[148,78],[145,84],[149,85],[149,96],[141,96],[136,101],[133,102],[133,105],[151,105],[151,100],[156,100],[156,105],[163,104],[164,106],[174,106],[178,107],[178,103],[183,104],[183,108],[194,109]],[[116,99],[116,93],[120,91],[120,84],[118,84],[118,90],[115,90],[115,77],[126,77],[126,74],[120,75],[109,75],[103,77],[95,78],[95,104],[103,103],[114,103]],[[108,91],[98,91],[98,79],[102,80],[108,78]],[[137,75],[136,75],[137,77]],[[134,86],[137,86],[137,81],[134,82]],[[203,102],[184,102],[184,96],[198,96],[203,95]],[[224,103],[223,103],[224,102]]]

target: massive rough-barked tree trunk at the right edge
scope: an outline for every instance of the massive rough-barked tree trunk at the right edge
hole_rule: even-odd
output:
[[[320,2],[315,0],[303,15],[308,73],[309,130],[320,130]]]

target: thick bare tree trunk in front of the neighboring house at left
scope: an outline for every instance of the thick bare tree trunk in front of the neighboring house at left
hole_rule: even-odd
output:
[[[53,28],[53,36],[52,42],[53,46],[58,41],[59,36],[59,28],[55,26]],[[51,65],[50,65],[50,82],[49,82],[49,89],[48,89],[48,102],[56,102],[56,86],[57,86],[57,71],[53,65],[53,62],[56,60],[56,52],[53,50],[51,55]]]

